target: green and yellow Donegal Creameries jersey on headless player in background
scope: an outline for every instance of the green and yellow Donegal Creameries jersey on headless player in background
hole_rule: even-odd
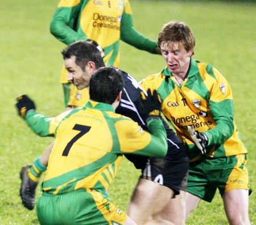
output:
[[[156,41],[137,32],[128,0],[61,0],[51,33],[65,44],[91,39],[104,49],[105,65],[119,66],[119,40],[155,53]]]

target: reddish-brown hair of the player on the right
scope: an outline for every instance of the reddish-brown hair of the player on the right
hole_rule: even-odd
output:
[[[158,46],[162,43],[181,42],[185,50],[189,51],[196,45],[195,37],[191,29],[183,22],[171,21],[164,24],[158,35]]]

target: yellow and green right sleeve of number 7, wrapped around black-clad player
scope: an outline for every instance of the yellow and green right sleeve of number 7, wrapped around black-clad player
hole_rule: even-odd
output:
[[[159,117],[147,120],[148,131],[130,118],[108,120],[115,154],[134,154],[147,157],[164,157],[167,153],[167,134]]]

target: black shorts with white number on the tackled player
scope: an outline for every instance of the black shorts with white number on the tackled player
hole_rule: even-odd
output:
[[[141,178],[167,186],[179,194],[185,190],[188,176],[188,159],[174,162],[165,158],[150,158],[143,170]]]

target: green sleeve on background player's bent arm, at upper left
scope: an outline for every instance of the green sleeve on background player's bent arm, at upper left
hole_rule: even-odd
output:
[[[69,45],[74,41],[87,40],[84,33],[76,32],[81,3],[73,7],[58,7],[53,15],[50,31],[57,40]]]

